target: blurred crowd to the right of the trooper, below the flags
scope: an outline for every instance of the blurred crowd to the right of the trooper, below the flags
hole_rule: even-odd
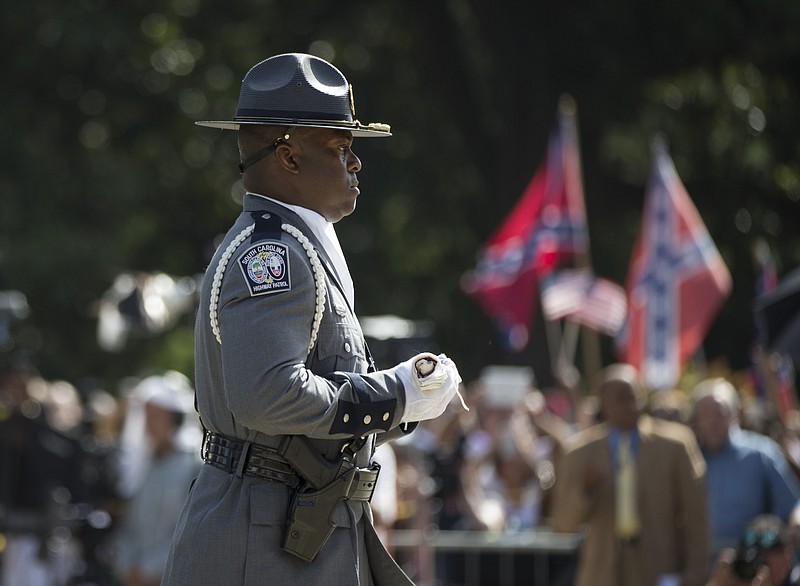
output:
[[[577,567],[551,573],[552,584],[782,585],[800,578],[797,413],[779,413],[754,386],[737,388],[723,377],[648,393],[629,365],[607,368],[590,392],[567,377],[548,389],[531,380],[509,404],[478,379],[468,387],[469,413],[453,405],[395,442],[395,528],[579,533]],[[617,449],[625,436],[634,486],[619,494],[626,480]],[[420,487],[428,487],[422,495]],[[422,524],[420,503],[427,507]],[[633,505],[633,527],[620,528],[618,503]],[[771,582],[753,581],[763,580],[755,573],[724,581],[725,560],[754,550],[746,543],[753,523],[780,526],[780,539],[757,556],[759,567],[779,549],[791,550],[791,563],[773,569]],[[421,565],[419,556],[398,552],[404,555]],[[476,583],[441,571],[436,580]]]

